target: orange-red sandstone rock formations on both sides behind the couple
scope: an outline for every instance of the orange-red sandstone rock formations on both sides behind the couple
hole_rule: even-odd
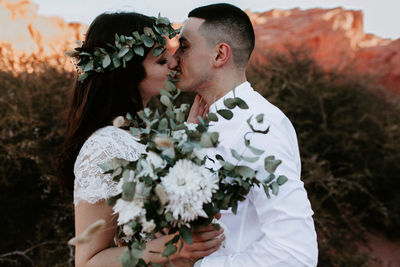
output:
[[[1,70],[32,72],[43,64],[73,69],[64,52],[83,40],[87,26],[41,16],[37,10],[29,0],[0,0]],[[400,94],[400,39],[365,33],[361,11],[338,7],[247,13],[256,33],[252,61],[288,46],[308,48],[325,69],[368,73]]]

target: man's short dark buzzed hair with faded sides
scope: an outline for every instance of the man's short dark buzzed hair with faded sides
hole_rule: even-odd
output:
[[[211,45],[227,43],[239,68],[246,68],[254,48],[254,29],[247,14],[230,4],[213,4],[193,9],[188,17],[204,19],[199,32]]]

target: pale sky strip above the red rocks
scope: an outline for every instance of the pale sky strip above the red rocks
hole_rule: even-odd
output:
[[[60,16],[67,22],[90,22],[105,11],[136,11],[150,16],[169,17],[183,22],[195,7],[219,3],[213,0],[32,0],[39,4],[39,14]],[[229,1],[241,9],[267,11],[270,9],[334,8],[362,10],[365,32],[380,37],[400,38],[400,0],[235,0]]]

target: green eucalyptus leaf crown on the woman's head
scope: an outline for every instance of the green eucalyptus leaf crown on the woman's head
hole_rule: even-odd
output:
[[[161,55],[167,39],[174,38],[179,34],[180,29],[175,30],[171,22],[166,17],[151,17],[154,20],[152,28],[144,27],[143,33],[134,31],[132,36],[115,34],[115,43],[107,44],[112,48],[112,52],[107,52],[103,47],[96,47],[93,53],[84,51],[83,42],[77,41],[79,47],[74,50],[67,51],[66,56],[73,58],[73,62],[78,71],[78,81],[83,82],[89,75],[106,70],[114,70],[119,67],[126,67],[126,62],[130,61],[135,55],[144,56],[145,47],[151,48],[155,44],[157,46],[153,50],[153,55],[158,57]]]

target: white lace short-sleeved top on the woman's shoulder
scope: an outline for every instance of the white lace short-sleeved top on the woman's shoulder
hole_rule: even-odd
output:
[[[104,174],[97,164],[113,158],[137,160],[145,146],[128,132],[106,126],[94,132],[83,144],[74,165],[74,205],[80,201],[94,204],[120,193],[110,174]]]

